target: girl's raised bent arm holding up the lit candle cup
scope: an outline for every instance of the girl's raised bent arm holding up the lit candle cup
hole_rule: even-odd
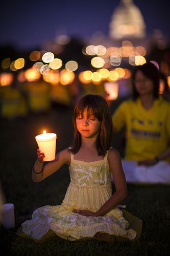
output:
[[[44,153],[40,152],[40,150],[37,150],[37,160],[35,161],[33,165],[32,170],[32,180],[34,182],[40,182],[44,180],[46,177],[52,175],[55,173],[59,168],[61,168],[64,164],[70,164],[70,153],[68,152],[68,148],[65,148],[65,150],[60,151],[57,155],[55,160],[47,163],[43,167],[43,158]]]

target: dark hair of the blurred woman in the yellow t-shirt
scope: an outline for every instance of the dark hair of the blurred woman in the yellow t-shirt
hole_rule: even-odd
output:
[[[141,66],[137,66],[132,73],[133,99],[135,100],[136,98],[139,97],[139,93],[136,91],[136,88],[135,88],[135,76],[137,71],[141,71],[144,76],[148,77],[153,81],[153,84],[154,84],[153,96],[154,98],[158,98],[159,97],[159,71],[152,62],[148,62],[148,63],[144,63]]]

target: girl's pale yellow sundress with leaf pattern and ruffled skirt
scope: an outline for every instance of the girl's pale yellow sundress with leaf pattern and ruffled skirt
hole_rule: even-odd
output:
[[[115,207],[104,216],[86,217],[73,209],[97,211],[111,197],[111,172],[107,161],[83,162],[71,155],[70,184],[61,205],[43,206],[33,212],[32,220],[22,223],[22,231],[40,240],[49,230],[67,240],[94,237],[97,232],[109,233],[133,240],[136,231],[128,229],[129,222],[123,212]]]

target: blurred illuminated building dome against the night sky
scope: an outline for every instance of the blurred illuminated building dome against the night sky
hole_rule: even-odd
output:
[[[121,0],[112,14],[110,37],[113,39],[143,38],[145,23],[133,0]]]

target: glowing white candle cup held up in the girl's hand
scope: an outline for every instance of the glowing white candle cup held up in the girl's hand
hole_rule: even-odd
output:
[[[35,137],[38,147],[44,153],[44,161],[52,161],[56,157],[57,134],[45,133]]]

